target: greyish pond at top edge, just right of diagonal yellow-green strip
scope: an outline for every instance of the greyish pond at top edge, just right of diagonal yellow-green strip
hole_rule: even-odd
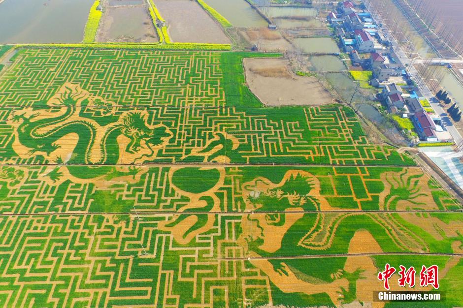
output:
[[[245,0],[206,0],[206,3],[232,23],[233,27],[261,28],[268,25]]]

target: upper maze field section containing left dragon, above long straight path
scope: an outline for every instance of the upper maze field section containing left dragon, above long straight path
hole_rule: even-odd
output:
[[[0,160],[414,165],[369,144],[350,108],[263,108],[251,55],[21,50],[0,83]]]

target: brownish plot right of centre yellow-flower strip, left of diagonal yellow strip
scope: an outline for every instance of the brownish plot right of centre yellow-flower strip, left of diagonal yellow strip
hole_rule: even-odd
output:
[[[230,44],[222,27],[196,1],[154,0],[174,42]]]

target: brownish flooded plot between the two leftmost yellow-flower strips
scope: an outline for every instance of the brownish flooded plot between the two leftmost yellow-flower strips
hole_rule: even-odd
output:
[[[136,0],[111,1],[137,3]],[[122,5],[122,4],[121,4]],[[109,6],[104,9],[97,42],[157,42],[158,34],[146,5]]]

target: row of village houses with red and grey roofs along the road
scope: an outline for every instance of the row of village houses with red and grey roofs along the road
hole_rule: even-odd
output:
[[[387,105],[390,113],[409,118],[422,141],[444,142],[452,139],[442,120],[422,106],[424,97],[421,97],[418,89],[407,85],[410,80],[406,68],[369,12],[352,1],[340,1],[336,11],[328,15],[328,21],[337,31],[353,65],[361,65],[373,72],[370,85],[381,89],[378,98]]]

